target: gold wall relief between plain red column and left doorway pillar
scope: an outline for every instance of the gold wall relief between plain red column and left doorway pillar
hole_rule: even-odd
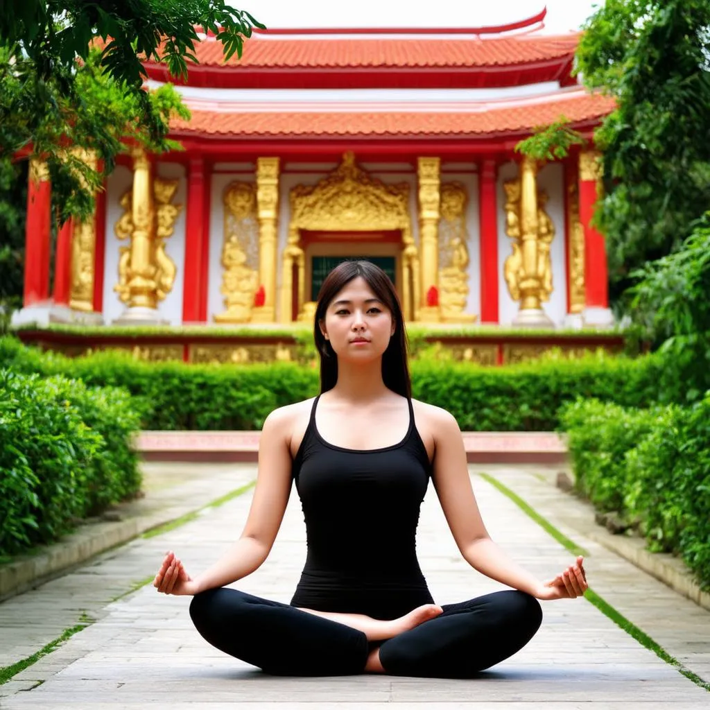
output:
[[[258,288],[258,222],[256,189],[249,182],[231,182],[224,190],[224,246],[222,288],[226,311],[214,316],[218,323],[251,320]]]

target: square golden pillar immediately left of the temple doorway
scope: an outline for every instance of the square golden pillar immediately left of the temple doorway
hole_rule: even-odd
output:
[[[278,158],[256,160],[256,202],[259,224],[259,283],[263,304],[252,312],[253,322],[274,322],[278,247]],[[283,320],[283,319],[282,319]]]

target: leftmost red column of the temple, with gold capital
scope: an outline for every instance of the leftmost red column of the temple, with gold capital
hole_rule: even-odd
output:
[[[45,163],[31,160],[29,172],[25,227],[24,307],[49,299],[52,188]]]

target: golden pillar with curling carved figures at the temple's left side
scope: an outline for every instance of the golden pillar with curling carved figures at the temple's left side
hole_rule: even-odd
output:
[[[133,185],[121,195],[124,209],[114,231],[130,240],[119,249],[119,283],[114,290],[129,307],[155,310],[158,302],[173,290],[177,268],[165,251],[165,240],[173,235],[182,209],[173,204],[179,180],[155,178],[140,149],[133,152]]]

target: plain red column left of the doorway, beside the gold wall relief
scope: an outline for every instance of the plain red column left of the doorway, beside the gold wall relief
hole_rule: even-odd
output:
[[[204,160],[190,158],[187,168],[185,280],[182,285],[182,322],[200,320],[204,249]]]

